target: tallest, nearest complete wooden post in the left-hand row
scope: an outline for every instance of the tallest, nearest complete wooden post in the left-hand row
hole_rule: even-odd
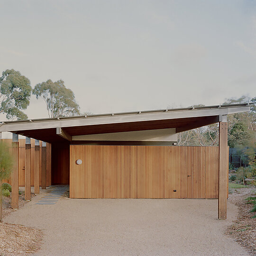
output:
[[[18,134],[12,134],[13,170],[11,173],[11,208],[18,209]]]

